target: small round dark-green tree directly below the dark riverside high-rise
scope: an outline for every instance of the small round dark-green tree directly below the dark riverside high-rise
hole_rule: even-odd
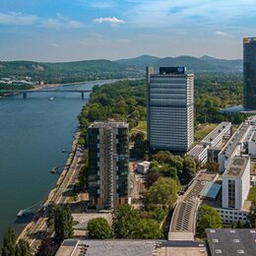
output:
[[[106,239],[110,238],[110,226],[104,218],[96,218],[88,223],[90,238]]]

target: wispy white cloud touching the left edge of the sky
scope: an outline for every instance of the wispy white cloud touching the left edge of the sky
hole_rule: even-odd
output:
[[[32,25],[36,23],[39,18],[35,15],[23,13],[0,13],[0,24],[2,25]]]

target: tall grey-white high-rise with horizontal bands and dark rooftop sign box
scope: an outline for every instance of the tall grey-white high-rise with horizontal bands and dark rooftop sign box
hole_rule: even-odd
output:
[[[187,152],[194,143],[194,75],[185,67],[147,68],[148,140],[153,150]]]

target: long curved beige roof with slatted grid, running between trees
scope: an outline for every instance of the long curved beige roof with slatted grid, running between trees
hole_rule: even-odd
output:
[[[216,173],[201,171],[185,194],[178,200],[169,227],[168,240],[194,240],[197,211],[201,204],[200,193],[207,181],[214,182]]]

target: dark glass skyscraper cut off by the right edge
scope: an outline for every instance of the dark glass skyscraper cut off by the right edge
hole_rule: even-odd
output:
[[[243,105],[256,109],[256,37],[243,38]]]

